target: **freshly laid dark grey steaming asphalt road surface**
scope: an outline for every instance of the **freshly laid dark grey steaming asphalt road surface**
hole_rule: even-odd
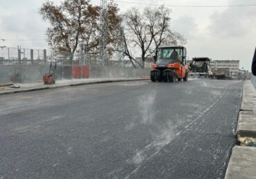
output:
[[[0,96],[0,178],[224,178],[241,81]]]

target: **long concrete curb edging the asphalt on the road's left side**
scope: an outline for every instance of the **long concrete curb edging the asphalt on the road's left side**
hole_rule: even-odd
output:
[[[47,85],[42,87],[30,87],[27,89],[16,89],[12,90],[10,92],[0,92],[0,95],[3,94],[13,94],[18,92],[32,92],[36,90],[42,90],[42,89],[54,89],[59,87],[68,87],[68,86],[77,86],[77,85],[90,85],[90,84],[97,84],[97,83],[115,83],[115,82],[125,82],[125,81],[145,81],[149,80],[149,78],[114,78],[114,79],[106,79],[106,80],[99,80],[99,81],[84,81],[84,82],[74,82],[74,83],[68,83],[68,84],[60,84],[60,85]]]

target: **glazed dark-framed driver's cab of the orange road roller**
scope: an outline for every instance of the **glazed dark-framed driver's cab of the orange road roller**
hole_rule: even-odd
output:
[[[180,63],[186,65],[187,50],[183,46],[165,46],[158,48],[156,63],[166,65],[169,63]]]

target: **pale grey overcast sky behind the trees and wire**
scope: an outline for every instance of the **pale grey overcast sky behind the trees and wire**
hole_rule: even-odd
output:
[[[54,0],[60,2],[59,0]],[[180,6],[230,6],[256,4],[256,0],[119,0],[135,2],[120,3],[120,11],[132,6],[142,9],[136,3],[152,3]],[[48,48],[45,32],[48,26],[39,16],[39,7],[44,0],[1,0],[0,46],[21,48]],[[100,0],[93,0],[99,5]],[[240,60],[240,68],[250,70],[256,46],[256,6],[228,8],[181,8],[172,7],[172,29],[188,39],[185,45],[190,59],[194,56],[208,56],[215,60]],[[9,40],[7,40],[9,39]],[[30,39],[31,41],[16,41]],[[0,50],[1,52],[1,50]]]

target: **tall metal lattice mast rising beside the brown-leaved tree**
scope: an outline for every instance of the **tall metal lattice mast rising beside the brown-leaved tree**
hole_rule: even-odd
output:
[[[106,58],[106,35],[107,35],[107,0],[100,0],[100,56],[105,63]]]

